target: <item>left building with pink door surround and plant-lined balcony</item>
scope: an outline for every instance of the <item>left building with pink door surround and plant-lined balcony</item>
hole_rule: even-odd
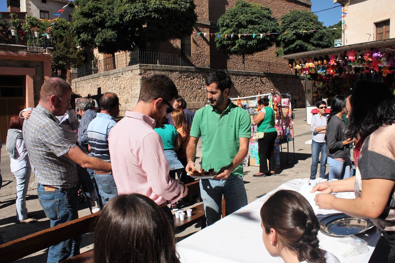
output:
[[[51,77],[53,48],[30,46],[26,35],[3,31],[8,30],[0,30],[6,36],[0,38],[0,141],[6,143],[11,116],[38,104],[41,85]]]

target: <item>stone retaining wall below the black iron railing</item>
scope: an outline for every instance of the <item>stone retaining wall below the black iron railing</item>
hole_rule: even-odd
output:
[[[105,92],[115,92],[122,104],[120,115],[124,115],[126,109],[133,109],[137,103],[141,77],[162,73],[174,81],[188,108],[199,109],[207,104],[205,78],[211,71],[209,68],[139,64],[73,79],[71,87],[76,94],[87,96],[90,93],[96,99]],[[258,90],[269,93],[275,88],[279,93],[290,92],[296,106],[305,107],[305,85],[299,76],[236,70],[228,73],[234,84],[231,97],[255,95]]]

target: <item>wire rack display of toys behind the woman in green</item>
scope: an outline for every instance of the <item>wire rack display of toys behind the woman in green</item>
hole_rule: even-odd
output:
[[[267,96],[269,98],[269,106],[273,107],[275,112],[275,128],[277,130],[277,138],[275,141],[274,156],[276,162],[276,168],[280,168],[282,162],[282,145],[293,142],[293,118],[292,118],[292,105],[291,98],[281,98],[280,95],[273,96],[272,94],[257,94],[247,97],[231,98],[233,103],[242,107],[251,117],[251,139],[249,143],[249,151],[243,162],[244,166],[253,165],[259,166],[258,156],[258,142],[256,140],[256,129],[257,125],[254,123],[254,117],[260,111],[258,107],[258,100]],[[288,155],[287,162],[289,164],[289,147],[287,147]],[[295,144],[293,142],[293,159],[295,162]]]

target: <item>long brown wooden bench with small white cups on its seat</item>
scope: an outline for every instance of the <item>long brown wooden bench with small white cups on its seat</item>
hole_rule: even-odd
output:
[[[198,195],[200,193],[199,180],[186,184],[186,186],[188,187],[187,196]],[[224,208],[222,209],[222,212],[224,212]],[[26,237],[21,237],[1,244],[0,261],[2,263],[13,262],[27,255],[49,248],[50,246],[58,244],[64,240],[93,232],[96,226],[96,218],[100,213],[101,212],[90,214],[55,227],[44,229]],[[186,217],[184,221],[179,220],[179,218],[174,219],[176,230],[177,228],[186,227],[199,221],[202,222],[202,227],[204,227],[206,224],[206,218],[203,204],[192,207],[192,216]],[[81,255],[68,259],[66,262],[89,262],[88,260],[92,259],[92,255],[93,250],[87,251]]]

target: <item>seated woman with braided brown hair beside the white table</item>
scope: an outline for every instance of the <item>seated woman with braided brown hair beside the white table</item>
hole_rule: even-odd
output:
[[[320,223],[300,193],[292,190],[275,192],[263,204],[261,220],[263,243],[270,255],[281,257],[284,262],[339,262],[319,248]]]

